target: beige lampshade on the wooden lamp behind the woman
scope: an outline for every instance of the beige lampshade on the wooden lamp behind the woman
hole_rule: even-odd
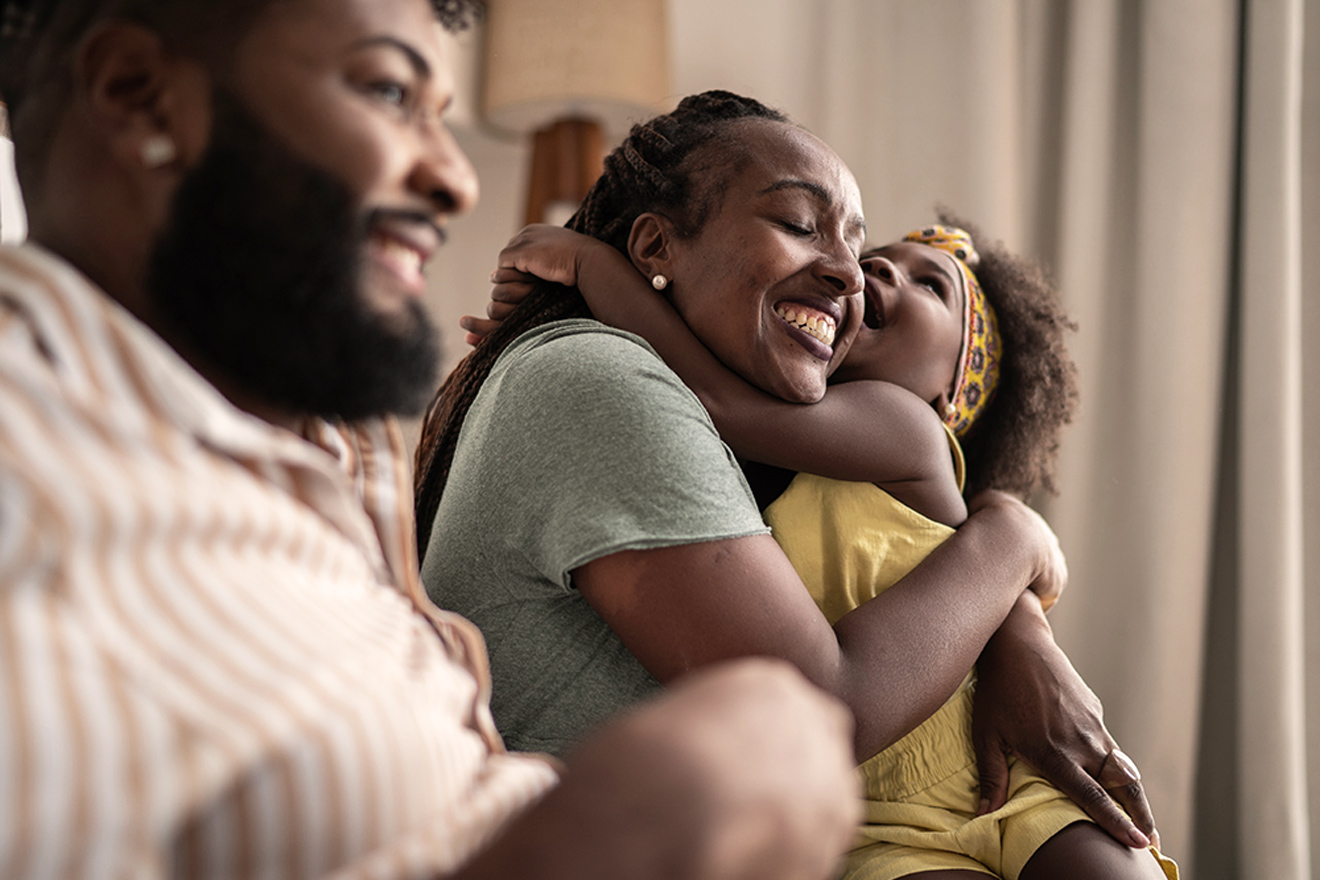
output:
[[[487,0],[484,79],[495,128],[589,119],[623,135],[667,110],[665,0]]]

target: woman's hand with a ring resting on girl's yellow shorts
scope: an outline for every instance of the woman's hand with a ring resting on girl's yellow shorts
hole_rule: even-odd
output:
[[[986,645],[977,676],[972,739],[982,813],[1007,800],[1007,757],[1016,755],[1115,839],[1159,844],[1140,776],[1121,752],[1110,757],[1118,744],[1104,707],[1055,644],[1034,594],[1023,594]]]

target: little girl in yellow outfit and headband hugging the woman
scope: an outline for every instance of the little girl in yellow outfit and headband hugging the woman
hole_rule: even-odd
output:
[[[528,227],[500,253],[491,318],[506,315],[535,276],[576,285],[598,319],[645,338],[735,453],[789,472],[766,520],[834,623],[952,534],[968,516],[964,491],[1052,489],[1057,435],[1076,402],[1063,344],[1072,325],[1032,264],[999,247],[982,256],[954,226],[917,230],[861,260],[865,303],[853,311],[862,326],[824,400],[808,406],[760,392],[711,356],[656,296],[668,278],[647,285],[615,248],[558,227]],[[775,314],[825,346],[836,335],[847,344],[834,317],[810,302],[780,302]],[[470,340],[491,325],[465,319]],[[759,476],[763,486],[774,479]],[[1010,761],[1003,805],[979,801],[974,682],[973,670],[935,715],[861,767],[866,825],[846,876],[1014,879],[1056,835],[1056,864],[1086,858],[1065,831],[1086,814],[1026,764]],[[1123,876],[1177,876],[1151,852]]]

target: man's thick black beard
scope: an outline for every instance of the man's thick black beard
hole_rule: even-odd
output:
[[[440,347],[416,299],[397,315],[367,303],[362,263],[378,214],[236,98],[218,91],[214,104],[211,145],[152,253],[152,305],[264,404],[346,421],[420,413]]]

